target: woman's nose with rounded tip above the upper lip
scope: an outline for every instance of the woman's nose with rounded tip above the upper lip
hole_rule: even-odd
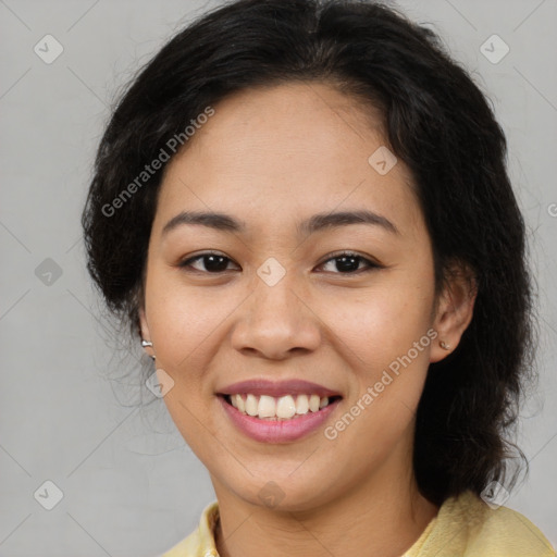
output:
[[[236,350],[283,360],[317,349],[321,342],[320,320],[304,289],[294,288],[286,276],[273,286],[259,281],[242,305],[243,313],[232,334]]]

